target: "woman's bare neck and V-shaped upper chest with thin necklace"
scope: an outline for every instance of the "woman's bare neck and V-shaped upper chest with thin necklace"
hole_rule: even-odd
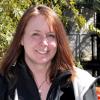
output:
[[[26,63],[33,74],[41,99],[46,100],[47,93],[51,86],[49,73],[47,72],[51,62],[46,64],[37,64],[34,62],[27,62],[26,60]]]

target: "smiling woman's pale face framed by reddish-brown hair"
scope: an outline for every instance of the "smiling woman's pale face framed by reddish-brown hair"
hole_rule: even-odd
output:
[[[21,44],[27,63],[48,64],[57,51],[55,33],[42,15],[29,20]]]

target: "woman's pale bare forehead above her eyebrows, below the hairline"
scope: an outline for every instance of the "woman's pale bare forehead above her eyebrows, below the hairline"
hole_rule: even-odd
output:
[[[53,28],[43,15],[37,15],[31,17],[26,25],[25,31],[38,30],[38,29],[44,31],[53,31]]]

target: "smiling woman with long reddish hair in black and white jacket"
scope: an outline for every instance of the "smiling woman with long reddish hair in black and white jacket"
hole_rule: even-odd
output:
[[[95,80],[75,67],[57,14],[30,7],[1,65],[0,100],[97,100]]]

